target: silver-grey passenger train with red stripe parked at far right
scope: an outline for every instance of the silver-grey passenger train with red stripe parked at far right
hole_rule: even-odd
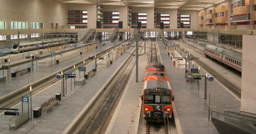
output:
[[[242,72],[242,54],[240,52],[220,48],[216,45],[205,45],[204,54],[208,58]]]

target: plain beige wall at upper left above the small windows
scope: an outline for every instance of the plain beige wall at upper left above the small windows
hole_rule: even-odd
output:
[[[0,20],[6,21],[7,29],[11,21],[43,23],[51,28],[51,23],[67,25],[66,4],[53,0],[0,0]]]

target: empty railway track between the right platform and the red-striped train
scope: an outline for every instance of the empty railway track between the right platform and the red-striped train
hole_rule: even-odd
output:
[[[195,47],[195,46],[191,46],[188,43],[182,43],[183,45],[186,45],[188,48],[191,48],[192,50],[194,50],[195,52],[201,54],[202,56],[204,56],[204,51]],[[184,52],[184,49],[182,50],[182,52]],[[191,55],[192,57],[194,57],[193,55]],[[199,59],[193,59],[193,61],[195,61],[200,67],[204,68],[205,71],[207,71],[208,73],[210,73],[216,80],[218,80],[219,82],[221,82],[221,84],[223,84],[226,88],[228,88],[230,91],[232,91],[232,93],[234,93],[237,97],[241,98],[241,88],[239,88],[238,86],[232,84],[232,82],[228,79],[226,79],[225,77],[221,76],[217,71],[210,69],[210,67],[208,67],[205,63],[203,63],[202,61],[200,61]]]

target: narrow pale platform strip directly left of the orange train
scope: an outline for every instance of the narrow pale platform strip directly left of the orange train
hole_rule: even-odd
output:
[[[150,46],[147,41],[146,52],[149,52]],[[142,50],[142,54],[144,50]],[[141,97],[145,79],[145,67],[147,66],[148,55],[139,56],[139,81],[136,82],[136,67],[132,70],[124,93],[113,114],[105,134],[137,134],[139,119],[141,115]]]

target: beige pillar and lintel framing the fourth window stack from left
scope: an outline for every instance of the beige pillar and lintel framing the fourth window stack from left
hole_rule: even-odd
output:
[[[170,28],[177,28],[177,9],[156,9],[156,13],[169,13]]]

